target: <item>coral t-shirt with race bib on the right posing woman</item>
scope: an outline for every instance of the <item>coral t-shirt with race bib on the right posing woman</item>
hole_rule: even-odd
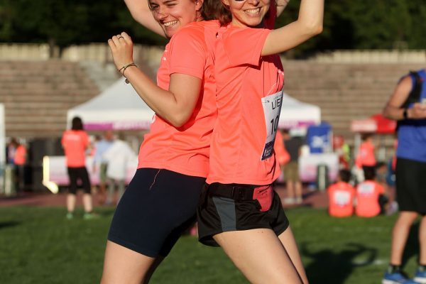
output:
[[[228,24],[219,29],[214,48],[218,116],[207,183],[268,185],[280,175],[273,143],[284,72],[278,55],[261,56],[275,9],[271,15],[266,28]]]

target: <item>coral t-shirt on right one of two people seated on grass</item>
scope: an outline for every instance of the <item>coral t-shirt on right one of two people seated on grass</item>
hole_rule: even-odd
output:
[[[377,216],[380,213],[378,196],[384,192],[384,187],[373,180],[361,182],[356,187],[356,215],[360,217]]]

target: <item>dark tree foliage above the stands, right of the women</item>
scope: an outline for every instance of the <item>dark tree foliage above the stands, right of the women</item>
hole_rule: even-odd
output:
[[[297,19],[300,0],[290,0],[277,26]],[[425,0],[328,0],[324,31],[293,52],[317,50],[426,48]]]

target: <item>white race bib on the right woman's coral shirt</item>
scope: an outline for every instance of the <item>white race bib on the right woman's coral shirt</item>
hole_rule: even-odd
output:
[[[266,141],[261,160],[266,160],[271,157],[273,153],[273,144],[275,143],[275,135],[278,130],[282,103],[283,90],[262,98],[263,113],[265,114],[266,123]]]

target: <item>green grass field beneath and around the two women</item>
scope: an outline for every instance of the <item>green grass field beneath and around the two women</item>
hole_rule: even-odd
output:
[[[99,283],[112,209],[84,221],[60,207],[0,208],[0,283]],[[82,215],[82,212],[80,212]],[[323,209],[288,210],[312,284],[380,283],[395,217],[332,219]],[[405,251],[413,274],[418,226]],[[222,249],[184,236],[151,283],[247,283]]]

